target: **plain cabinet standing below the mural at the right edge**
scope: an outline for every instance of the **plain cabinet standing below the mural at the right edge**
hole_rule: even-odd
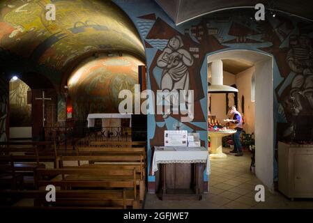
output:
[[[278,190],[291,199],[313,198],[313,145],[278,143]]]

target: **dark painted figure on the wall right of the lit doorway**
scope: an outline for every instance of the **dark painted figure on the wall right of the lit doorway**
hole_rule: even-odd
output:
[[[287,120],[280,137],[313,139],[313,41],[301,33],[289,40],[287,62],[291,69],[289,84],[281,95],[280,115]]]

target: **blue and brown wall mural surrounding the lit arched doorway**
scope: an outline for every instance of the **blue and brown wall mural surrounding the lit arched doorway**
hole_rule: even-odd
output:
[[[205,56],[225,49],[250,49],[274,56],[275,139],[291,139],[291,130],[296,130],[296,133],[293,132],[295,139],[313,139],[312,22],[305,22],[296,17],[289,18],[286,15],[266,17],[266,21],[256,22],[251,19],[250,10],[241,9],[213,13],[176,26],[153,1],[115,2],[130,15],[145,43],[148,89],[162,89],[162,78],[174,77],[180,80],[188,70],[189,88],[195,91],[194,111],[197,111],[197,114],[192,123],[183,123],[182,128],[190,132],[200,132],[202,143],[207,137]],[[134,2],[139,9],[132,10]],[[171,63],[164,62],[160,66],[158,61],[174,51],[168,49],[168,45],[176,36],[176,48],[180,48],[183,43],[183,49],[192,55],[194,62],[190,63],[189,59],[190,66],[185,63],[185,67],[181,67],[181,75],[171,72],[171,75],[165,76],[169,68],[165,70],[164,67]],[[188,54],[167,55],[164,59],[179,63],[183,55]],[[185,56],[185,59],[187,58],[190,57]],[[153,146],[162,145],[163,131],[173,129],[173,123],[178,122],[178,118],[179,116],[175,115],[166,119],[158,115],[148,116],[150,158]],[[153,176],[148,177],[149,182],[154,180]]]

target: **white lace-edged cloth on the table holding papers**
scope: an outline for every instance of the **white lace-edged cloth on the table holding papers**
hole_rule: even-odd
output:
[[[155,146],[152,161],[152,175],[158,171],[158,164],[165,163],[197,163],[206,164],[206,174],[210,175],[210,159],[204,147],[165,147]]]

